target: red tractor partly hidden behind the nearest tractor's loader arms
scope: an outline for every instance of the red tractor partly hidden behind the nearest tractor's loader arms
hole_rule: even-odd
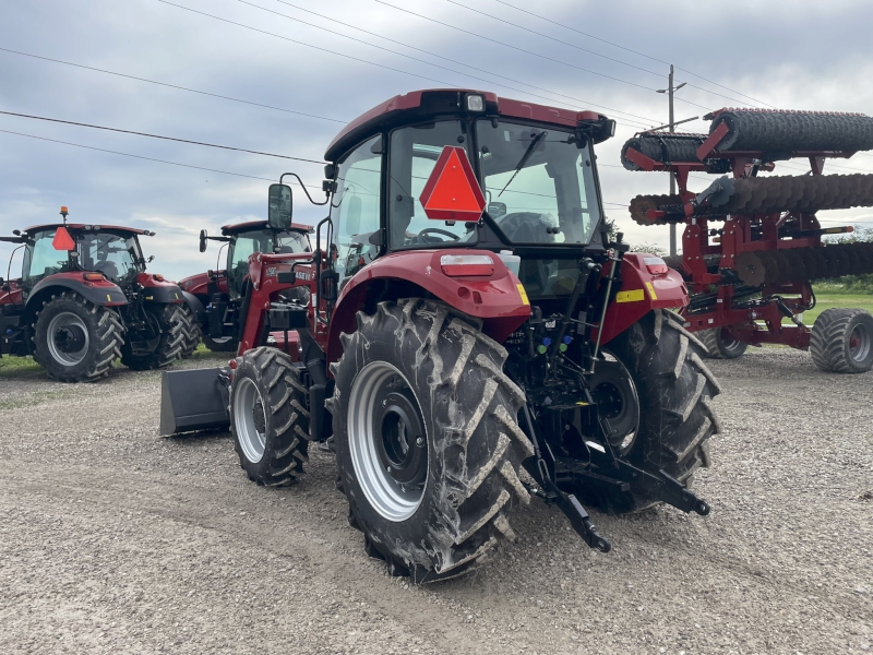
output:
[[[249,257],[254,252],[297,254],[311,252],[309,225],[292,224],[284,230],[272,229],[266,221],[250,221],[237,225],[225,225],[220,237],[211,237],[200,231],[200,251],[206,251],[206,242],[222,241],[227,246],[223,269],[191,275],[179,282],[179,286],[196,298],[196,313],[203,343],[213,353],[236,353],[239,344],[240,306],[249,284]],[[224,246],[222,247],[224,249]],[[220,261],[222,250],[218,251]],[[308,293],[301,287],[299,293]],[[301,297],[308,300],[307,297]]]

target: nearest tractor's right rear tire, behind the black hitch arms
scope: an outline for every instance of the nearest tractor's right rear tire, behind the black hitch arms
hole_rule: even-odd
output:
[[[625,457],[648,471],[663,469],[689,485],[709,466],[708,439],[721,431],[711,400],[720,392],[706,368],[706,353],[682,319],[655,310],[609,343],[630,371],[639,397],[639,428]],[[623,491],[586,492],[585,499],[611,513],[644,510],[657,498]]]

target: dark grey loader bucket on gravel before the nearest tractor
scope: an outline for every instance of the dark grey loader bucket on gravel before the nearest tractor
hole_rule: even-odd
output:
[[[220,369],[164,371],[160,380],[160,436],[230,427],[228,391]]]

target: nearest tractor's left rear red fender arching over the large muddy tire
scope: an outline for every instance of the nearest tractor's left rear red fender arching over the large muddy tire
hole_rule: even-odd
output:
[[[445,254],[490,254],[491,275],[450,277],[442,272]],[[343,354],[340,333],[357,329],[355,314],[368,301],[398,300],[408,297],[435,297],[482,321],[482,332],[501,343],[530,318],[530,303],[515,274],[495,254],[482,250],[441,249],[397,252],[380,258],[361,269],[343,287],[331,317],[327,360]]]

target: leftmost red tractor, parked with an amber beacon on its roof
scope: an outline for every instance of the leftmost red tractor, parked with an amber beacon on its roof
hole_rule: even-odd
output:
[[[32,355],[61,382],[98,380],[116,358],[145,370],[190,356],[200,333],[186,294],[145,271],[139,237],[155,233],[67,214],[0,237],[24,249],[21,277],[0,279],[0,355]]]

